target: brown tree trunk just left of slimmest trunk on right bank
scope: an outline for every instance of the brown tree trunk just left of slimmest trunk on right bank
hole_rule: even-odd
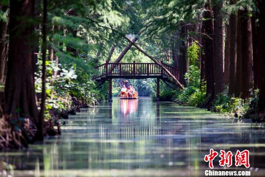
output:
[[[236,2],[234,0],[233,4]],[[228,94],[235,94],[235,83],[236,83],[236,64],[237,64],[237,34],[238,34],[238,17],[236,14],[231,14],[230,26],[231,36],[230,36],[230,74],[229,74],[229,90]]]

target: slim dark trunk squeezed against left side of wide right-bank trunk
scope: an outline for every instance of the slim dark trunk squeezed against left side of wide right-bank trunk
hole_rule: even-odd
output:
[[[239,97],[241,94],[241,13],[238,11],[238,35],[237,35],[237,66],[236,66],[236,86],[235,86],[235,96]]]

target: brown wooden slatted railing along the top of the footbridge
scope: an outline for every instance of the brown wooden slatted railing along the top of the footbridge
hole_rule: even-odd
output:
[[[172,67],[168,64],[161,62],[163,66],[173,74],[177,79],[179,79],[179,69]],[[159,76],[168,74],[161,69],[161,67],[156,63],[104,63],[96,66],[97,74],[94,79],[100,78],[106,75],[115,76]],[[168,76],[169,77],[169,76]]]

